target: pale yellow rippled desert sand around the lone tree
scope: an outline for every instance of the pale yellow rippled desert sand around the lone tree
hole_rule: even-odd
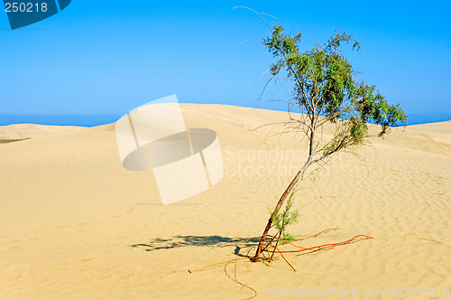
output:
[[[275,204],[294,174],[286,168],[303,163],[303,158],[287,160],[286,154],[296,150],[301,156],[305,148],[292,135],[268,136],[272,127],[249,131],[284,120],[283,112],[222,105],[183,105],[182,110],[188,127],[216,131],[225,175],[207,192],[165,206],[152,172],[122,167],[114,125],[0,127],[0,139],[31,137],[0,144],[2,300],[253,296],[230,278],[234,263],[186,271],[235,258],[236,246],[261,234],[266,206]],[[253,150],[261,155],[253,156]],[[374,239],[286,255],[297,272],[282,258],[268,266],[240,261],[236,276],[253,287],[255,299],[279,298],[272,295],[283,290],[302,298],[299,291],[306,288],[321,290],[315,299],[362,298],[356,290],[377,293],[372,299],[416,298],[408,296],[409,287],[420,287],[424,295],[430,288],[438,295],[440,288],[438,298],[446,298],[451,122],[393,130],[360,154],[365,162],[337,155],[315,184],[299,185],[300,219],[290,232],[307,237],[338,227],[300,243],[305,247],[358,234]],[[353,289],[354,297],[322,295],[329,287]],[[402,296],[394,296],[400,288]],[[378,294],[381,290],[389,295]]]

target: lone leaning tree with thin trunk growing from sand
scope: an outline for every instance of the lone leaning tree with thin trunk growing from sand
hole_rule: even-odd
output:
[[[357,71],[341,52],[342,45],[349,42],[353,50],[360,50],[353,34],[336,32],[324,45],[317,43],[311,50],[301,52],[301,33],[287,34],[281,24],[270,26],[259,15],[271,30],[271,35],[263,38],[262,42],[277,59],[271,65],[270,80],[290,82],[290,88],[286,89],[289,112],[295,107],[302,114],[299,118],[290,115],[285,125],[294,124],[291,129],[308,138],[308,157],[272,211],[252,261],[258,261],[263,251],[270,252],[268,248],[274,248],[275,252],[280,239],[283,239],[284,227],[296,220],[297,214],[290,215],[289,212],[290,198],[310,166],[327,163],[339,151],[368,145],[368,124],[380,126],[378,137],[388,135],[390,127],[407,125],[407,116],[399,104],[390,105],[374,85],[356,80]],[[326,125],[333,128],[333,137],[328,140],[318,135]],[[287,199],[286,209],[282,211]],[[272,228],[278,232],[270,236]],[[272,245],[274,239],[277,240],[275,247]]]

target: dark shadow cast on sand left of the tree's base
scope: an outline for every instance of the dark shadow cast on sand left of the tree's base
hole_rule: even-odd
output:
[[[144,248],[146,251],[154,251],[169,248],[181,248],[189,246],[197,247],[226,247],[233,246],[240,248],[247,239],[244,238],[225,238],[219,236],[174,236],[170,239],[156,238],[145,244],[135,244],[132,248]],[[259,239],[252,238],[247,240],[246,247],[255,247],[258,245]]]

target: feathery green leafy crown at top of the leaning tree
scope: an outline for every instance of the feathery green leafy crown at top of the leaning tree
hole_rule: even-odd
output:
[[[380,137],[388,134],[392,126],[407,125],[407,116],[399,104],[388,104],[374,86],[354,80],[357,72],[341,52],[342,45],[349,42],[353,49],[361,49],[354,35],[336,32],[326,44],[317,44],[304,52],[299,50],[301,36],[301,33],[286,34],[277,24],[262,42],[278,59],[270,69],[273,79],[292,82],[290,103],[310,116],[310,129],[323,124],[319,117],[333,123],[347,121],[348,126],[341,127],[345,132],[337,132],[335,139],[341,137],[344,145],[349,146],[364,144],[368,137],[365,123],[380,125]],[[336,142],[333,144],[339,145]]]

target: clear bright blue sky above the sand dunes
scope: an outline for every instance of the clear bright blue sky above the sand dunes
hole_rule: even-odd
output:
[[[258,93],[246,98],[272,57],[261,42],[244,41],[269,31],[236,5],[301,31],[305,49],[326,42],[334,28],[355,33],[363,49],[345,53],[410,123],[451,119],[449,1],[72,0],[60,14],[14,31],[0,12],[0,124],[11,122],[7,115],[106,115],[113,122],[171,94],[180,102],[255,107]]]

